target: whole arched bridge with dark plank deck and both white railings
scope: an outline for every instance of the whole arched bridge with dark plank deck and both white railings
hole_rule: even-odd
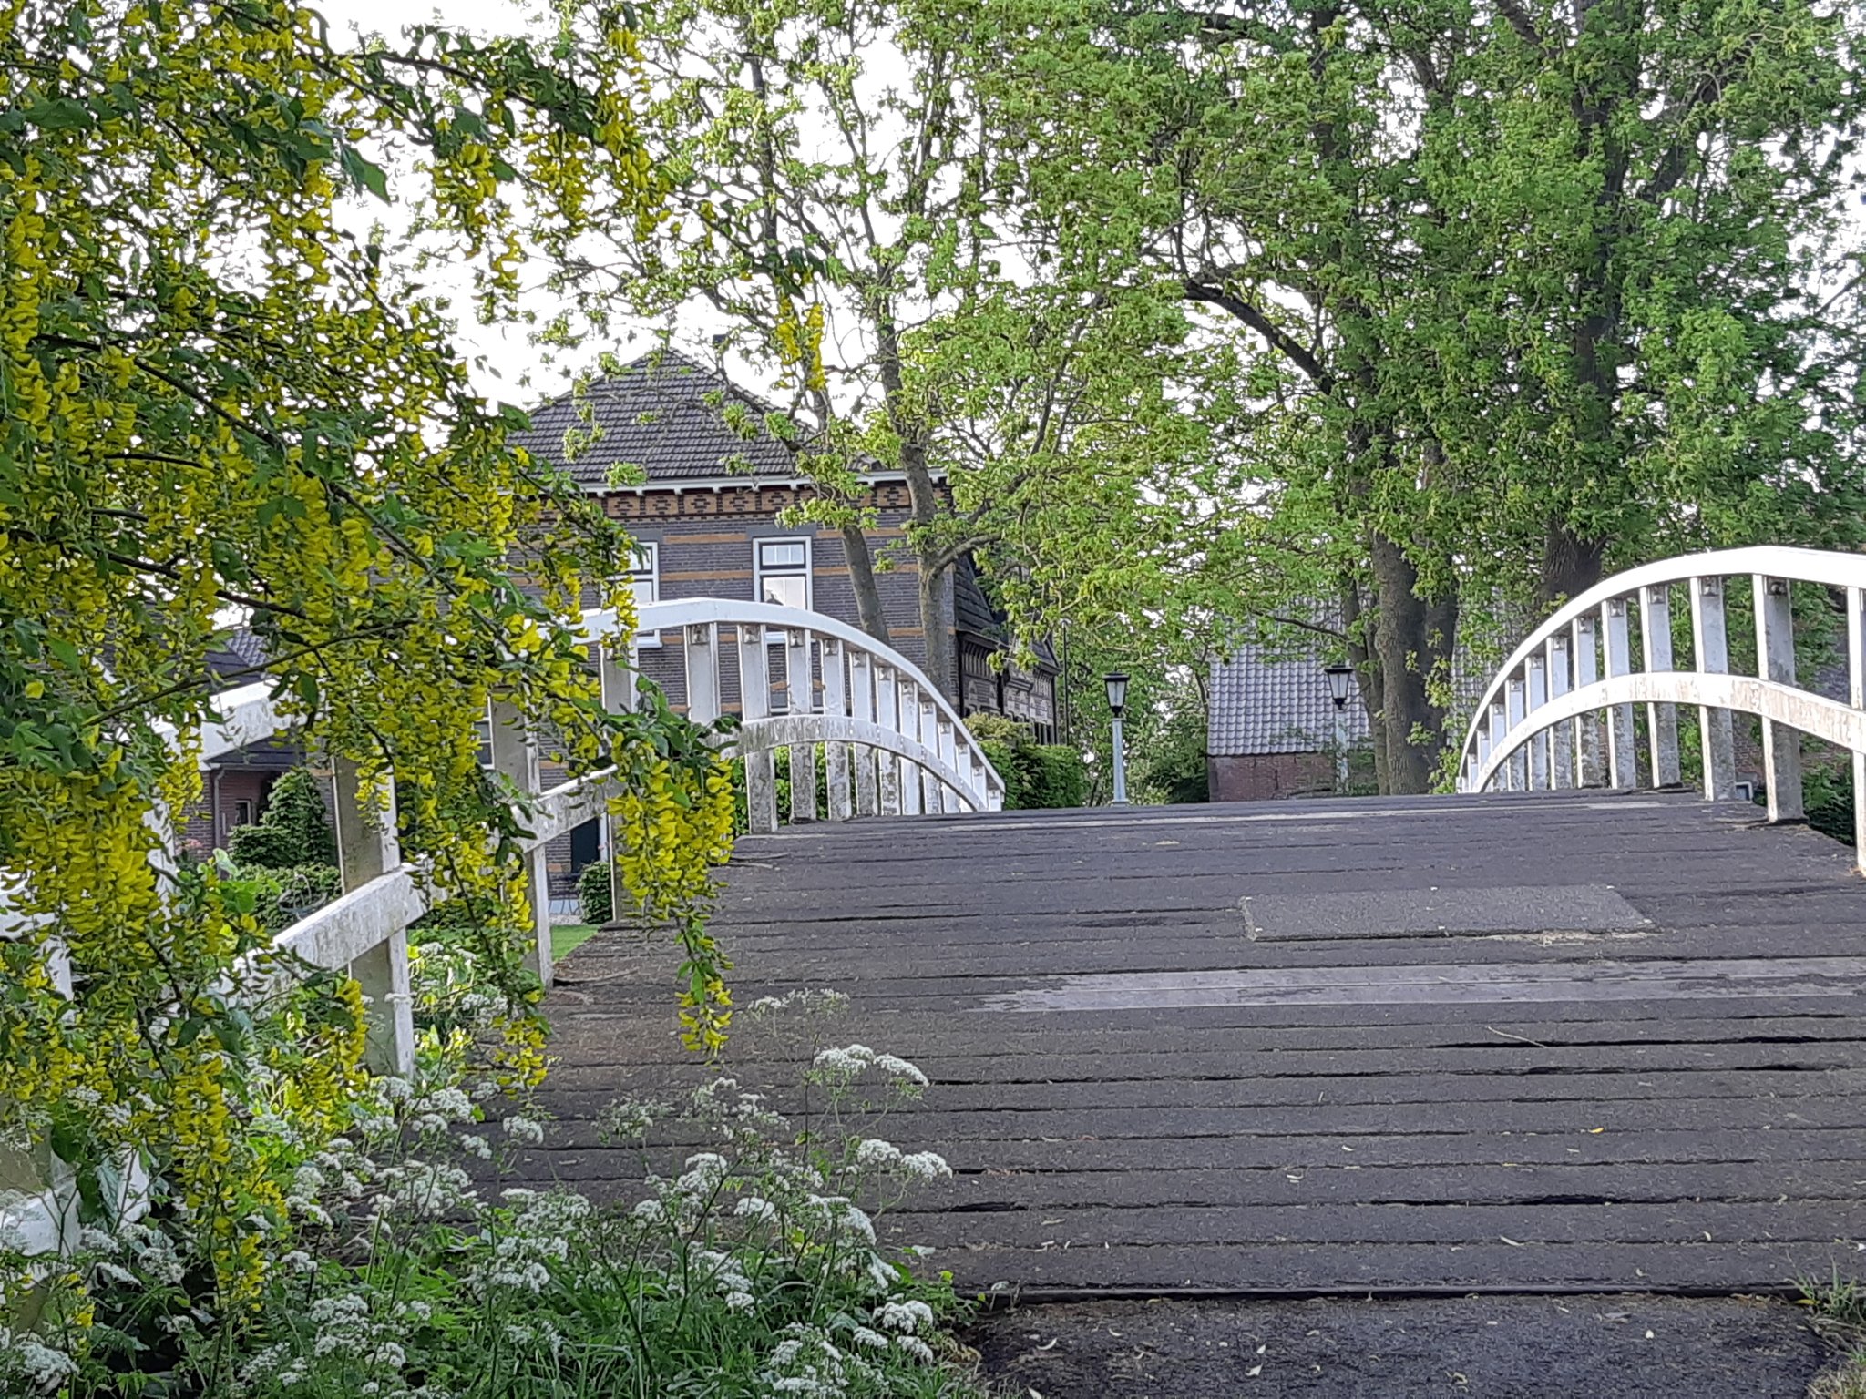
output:
[[[1726,612],[1743,576],[1754,627]],[[1845,701],[1797,685],[1797,589],[1803,616],[1844,616]],[[771,748],[827,744],[834,819],[756,796],[715,931],[741,1004],[840,989],[847,1039],[933,1078],[890,1136],[955,1173],[888,1227],[963,1287],[1773,1291],[1853,1274],[1866,1244],[1866,884],[1795,823],[1797,735],[1855,770],[1866,752],[1862,597],[1855,556],[1651,565],[1510,658],[1463,795],[1148,811],[991,810],[996,776],[924,677],[827,619],[648,623],[683,629],[694,713],[739,707],[754,783]],[[618,703],[631,644],[603,651]],[[250,703],[209,752],[269,731]],[[1748,716],[1767,808],[1728,800]],[[509,718],[494,765],[536,791]],[[537,806],[543,839],[599,783]],[[340,828],[351,892],[287,938],[394,990],[420,897],[383,832],[349,808]],[[621,933],[556,970],[558,1123],[528,1179],[634,1188],[595,1119],[702,1073],[670,977]],[[379,1005],[396,1063],[407,1030]],[[733,1056],[741,1080],[795,1074],[750,1026]]]

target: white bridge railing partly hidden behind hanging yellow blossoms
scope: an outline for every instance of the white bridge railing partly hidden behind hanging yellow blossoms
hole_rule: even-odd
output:
[[[685,705],[696,722],[737,709],[739,726],[724,752],[745,759],[754,832],[776,830],[780,817],[789,824],[817,819],[819,748],[827,793],[821,813],[829,821],[985,811],[1004,804],[1002,778],[939,688],[907,657],[834,617],[707,597],[644,606],[638,629],[627,636],[616,634],[614,614],[595,612],[584,617],[582,632],[612,711],[634,707],[636,681],[646,670],[681,681],[685,694],[677,692],[681,685],[668,686],[670,701]],[[644,653],[657,660],[644,662]],[[220,718],[202,735],[203,765],[293,726],[272,705],[269,683],[228,690],[215,698],[215,709]],[[782,811],[778,748],[789,750],[791,798]],[[549,985],[547,847],[606,817],[610,780],[597,772],[543,787],[543,750],[521,714],[502,703],[491,713],[491,767],[530,806],[532,834],[522,849],[536,940],[526,963]],[[355,767],[338,763],[332,789],[343,893],[284,929],[276,942],[313,966],[349,968],[369,998],[371,1067],[405,1074],[414,1067],[407,929],[427,912],[431,886],[401,858],[392,776],[371,802],[358,795]],[[174,832],[164,838],[172,841]],[[603,849],[614,849],[606,821]],[[0,936],[7,931],[0,901]],[[50,955],[62,961],[56,948]],[[62,981],[69,989],[69,977]],[[26,1252],[54,1252],[75,1237],[67,1175],[41,1162],[37,1181],[0,1179],[0,1224],[24,1237]],[[9,1192],[9,1184],[26,1188]]]

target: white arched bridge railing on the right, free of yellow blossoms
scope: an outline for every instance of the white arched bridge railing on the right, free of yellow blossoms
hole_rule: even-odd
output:
[[[1734,588],[1750,580],[1756,675],[1730,672]],[[1793,584],[1844,599],[1847,701],[1795,679]],[[1672,655],[1674,603],[1691,619],[1691,664]],[[1801,806],[1801,735],[1853,752],[1855,838],[1866,852],[1866,556],[1814,548],[1730,548],[1648,563],[1590,588],[1564,606],[1491,681],[1465,735],[1459,791],[1638,787],[1635,705],[1646,707],[1644,778],[1683,783],[1679,705],[1698,711],[1706,798],[1735,793],[1734,714],[1762,720],[1771,821]],[[1638,658],[1633,655],[1635,623]],[[1836,629],[1838,630],[1838,629]]]

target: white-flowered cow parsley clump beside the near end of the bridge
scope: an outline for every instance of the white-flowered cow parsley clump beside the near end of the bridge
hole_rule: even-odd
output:
[[[677,1106],[612,1104],[599,1140],[653,1173],[608,1203],[487,1188],[470,1158],[509,1160],[543,1125],[494,1121],[509,1108],[453,1084],[379,1080],[356,1129],[297,1170],[282,1227],[299,1248],[230,1315],[188,1309],[175,1280],[194,1259],[157,1229],[86,1231],[77,1267],[106,1265],[99,1313],[123,1345],[67,1362],[69,1392],[985,1399],[944,1330],[961,1313],[950,1283],[875,1237],[950,1175],[877,1132],[926,1076],[862,1045],[804,1063],[808,1129],[730,1078]],[[121,1388],[123,1369],[153,1384]],[[13,1378],[0,1351],[0,1386]]]

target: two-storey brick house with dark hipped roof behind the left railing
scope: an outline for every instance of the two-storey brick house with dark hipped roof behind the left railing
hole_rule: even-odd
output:
[[[621,366],[577,395],[532,410],[517,436],[534,457],[564,466],[599,496],[638,547],[634,589],[642,603],[681,597],[743,597],[829,614],[860,625],[840,530],[789,524],[780,515],[808,502],[812,485],[793,448],[773,436],[776,410],[718,369],[677,351],[657,349]],[[567,440],[580,450],[567,451]],[[926,666],[918,567],[905,547],[907,483],[898,472],[862,478],[877,524],[868,532],[890,644]],[[950,575],[954,655],[959,675],[935,675],[961,713],[1002,713],[1030,722],[1045,741],[1056,729],[1056,666],[1045,655],[1034,672],[993,670],[1004,651],[1000,619],[970,560]],[[685,690],[683,638],[644,638],[642,672],[679,703]],[[724,696],[726,711],[737,696]],[[554,903],[575,890],[575,875],[599,856],[597,823],[550,852]]]

